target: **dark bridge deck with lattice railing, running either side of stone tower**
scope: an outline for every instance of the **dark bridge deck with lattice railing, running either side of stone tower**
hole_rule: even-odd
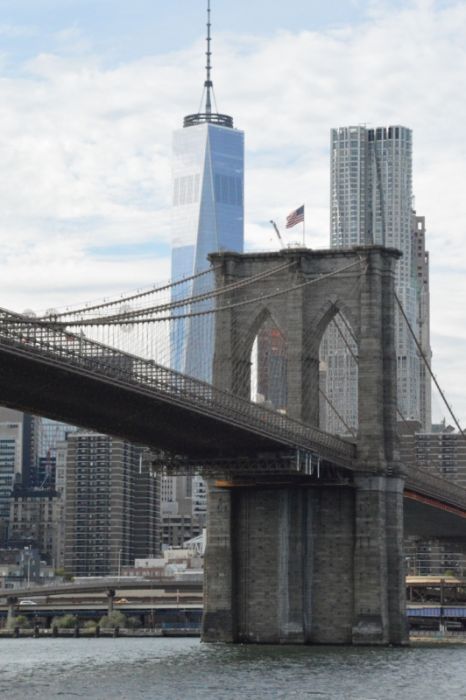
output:
[[[244,457],[300,451],[357,468],[356,445],[349,440],[5,309],[0,309],[0,404],[200,463],[237,457],[240,449]],[[441,477],[408,467],[406,488],[412,499],[420,495],[430,506],[466,513],[466,490]]]

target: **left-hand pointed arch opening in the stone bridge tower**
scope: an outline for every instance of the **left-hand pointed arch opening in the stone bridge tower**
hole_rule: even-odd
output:
[[[288,346],[270,314],[264,314],[251,348],[251,400],[286,413]]]

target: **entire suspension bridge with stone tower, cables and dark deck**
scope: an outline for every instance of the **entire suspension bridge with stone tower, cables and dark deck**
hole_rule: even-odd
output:
[[[404,644],[404,533],[464,533],[466,490],[400,460],[399,256],[215,253],[208,271],[130,296],[0,311],[2,405],[207,479],[204,640]],[[344,435],[319,418],[319,349],[338,319],[357,359],[358,426]],[[270,324],[286,348],[280,409],[251,400]]]

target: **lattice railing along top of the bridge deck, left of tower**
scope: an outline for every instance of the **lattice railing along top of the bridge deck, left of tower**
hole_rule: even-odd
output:
[[[100,376],[136,384],[171,402],[190,404],[199,411],[271,439],[332,458],[337,464],[350,466],[356,456],[356,446],[350,441],[216,389],[152,360],[89,340],[83,334],[54,327],[53,323],[34,321],[0,309],[0,343],[13,345],[23,353],[41,355]]]

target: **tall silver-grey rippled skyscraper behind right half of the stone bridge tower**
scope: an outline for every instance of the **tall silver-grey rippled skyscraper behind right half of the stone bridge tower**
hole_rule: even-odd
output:
[[[400,125],[332,129],[330,188],[331,247],[376,244],[402,252],[397,265],[396,292],[417,337],[423,324],[424,345],[429,347],[428,256],[423,237],[425,222],[412,212],[411,130]],[[417,257],[421,238],[422,282],[418,277],[420,258]],[[338,321],[337,317],[337,324]],[[347,324],[348,319],[345,321]],[[331,324],[321,346],[324,382],[321,387],[336,408],[335,411],[327,407],[325,411],[323,427],[330,432],[345,433],[348,426],[357,427],[357,348],[346,324],[340,321],[340,329]],[[395,332],[400,417],[413,420],[422,417],[423,425],[428,428],[429,386],[425,375],[421,381],[418,352],[399,311]],[[348,349],[352,343],[353,352]]]

